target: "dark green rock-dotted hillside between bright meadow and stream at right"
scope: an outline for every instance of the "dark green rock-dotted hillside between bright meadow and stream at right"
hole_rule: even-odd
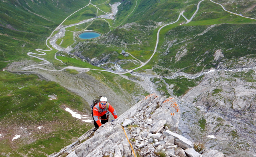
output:
[[[180,26],[169,31],[161,47],[159,66],[168,69],[182,69],[187,73],[215,68],[220,62],[238,59],[242,56],[255,57],[255,24],[221,24],[200,35],[210,26]],[[252,34],[248,34],[250,31]],[[214,60],[214,54],[221,50],[224,57]],[[178,55],[185,52],[178,60]]]

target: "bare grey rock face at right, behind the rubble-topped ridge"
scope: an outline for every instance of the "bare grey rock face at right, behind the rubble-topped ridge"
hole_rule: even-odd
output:
[[[256,73],[250,68],[242,72],[219,71],[205,75],[199,85],[183,95],[181,100],[186,104],[179,103],[184,109],[181,118],[187,125],[181,128],[182,133],[203,141],[207,147],[221,150],[227,157],[256,155],[255,78]],[[189,104],[196,106],[199,112],[191,111],[192,107],[185,109]],[[189,111],[197,116],[187,116]],[[193,122],[202,124],[202,120],[205,126],[195,130]],[[180,121],[179,126],[182,123]]]

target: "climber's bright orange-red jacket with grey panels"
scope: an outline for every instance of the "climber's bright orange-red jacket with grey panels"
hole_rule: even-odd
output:
[[[109,103],[108,103],[108,106],[109,106],[108,110],[107,110],[107,105],[105,108],[102,108],[100,103],[97,103],[93,107],[93,119],[96,121],[96,123],[99,125],[99,127],[102,125],[99,117],[106,114],[107,111],[110,111],[115,119],[117,118],[116,110]]]

